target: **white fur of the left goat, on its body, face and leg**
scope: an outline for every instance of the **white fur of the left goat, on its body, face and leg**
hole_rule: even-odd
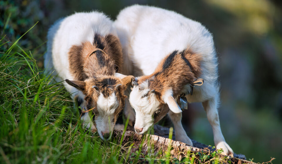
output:
[[[110,20],[105,14],[100,12],[81,12],[75,13],[71,16],[58,20],[48,31],[47,52],[44,55],[44,67],[45,73],[56,76],[56,81],[63,81],[64,79],[76,80],[75,77],[70,74],[69,67],[69,50],[73,45],[81,45],[85,41],[93,43],[94,35],[99,34],[105,37],[108,34],[117,36],[116,30],[113,27],[113,21]],[[54,71],[56,70],[56,71]],[[85,95],[73,86],[68,85],[65,81],[66,89],[68,92],[73,93],[72,98],[79,96],[84,98]],[[83,103],[81,108],[87,109],[87,105]],[[106,105],[105,105],[106,104]],[[100,106],[99,106],[100,105]],[[104,106],[105,105],[105,106]],[[116,102],[115,95],[110,96],[109,100],[104,100],[103,95],[98,99],[98,110],[105,110],[105,107],[109,107],[109,110],[105,112],[113,113],[113,108],[116,108],[118,103]],[[102,117],[101,114],[99,118]],[[101,135],[102,131],[112,131],[114,125],[108,123],[108,118],[102,118],[98,121],[98,133]],[[88,113],[85,113],[81,120],[86,128],[97,131]],[[97,124],[97,122],[96,122]],[[103,136],[101,137],[103,138]]]

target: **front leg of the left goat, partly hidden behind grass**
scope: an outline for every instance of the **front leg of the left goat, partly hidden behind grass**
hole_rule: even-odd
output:
[[[81,109],[83,109],[84,111],[87,110],[87,104],[86,104],[86,102],[84,101],[83,98],[78,97],[77,102],[78,102],[78,105],[80,106]],[[82,112],[82,111],[80,110],[80,112]],[[80,119],[83,122],[83,127],[85,127],[86,129],[90,128],[90,130],[93,131],[93,132],[97,131],[97,128],[93,124],[92,119],[90,118],[88,112],[82,113]]]

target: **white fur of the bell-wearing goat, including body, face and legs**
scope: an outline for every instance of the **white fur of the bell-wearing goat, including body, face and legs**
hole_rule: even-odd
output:
[[[218,63],[212,34],[201,23],[178,13],[140,5],[123,9],[114,25],[122,41],[123,52],[127,55],[127,65],[131,66],[128,69],[133,69],[134,76],[152,74],[160,61],[175,50],[182,51],[188,48],[202,55],[200,62],[202,74],[197,78],[203,78],[204,85],[195,86],[193,95],[186,97],[188,102],[203,102],[214,132],[216,148],[222,148],[225,155],[232,155],[233,151],[225,142],[219,125]],[[135,124],[138,123],[138,126],[148,129],[153,124],[152,116],[149,118],[148,115],[155,112],[158,100],[142,98],[144,94],[141,92],[148,92],[150,88],[142,91],[137,88],[138,86],[134,86],[130,93],[130,104],[136,112]],[[184,91],[190,86],[183,88]],[[176,139],[191,145],[192,142],[180,122],[181,113],[175,115],[170,110],[169,116],[175,127]],[[142,132],[144,133],[144,130]]]

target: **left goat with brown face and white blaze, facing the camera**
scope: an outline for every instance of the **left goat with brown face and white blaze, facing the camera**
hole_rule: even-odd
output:
[[[44,67],[64,81],[81,107],[86,128],[102,139],[111,136],[125,106],[124,91],[134,79],[125,76],[122,47],[113,22],[99,12],[75,13],[57,21],[48,32]],[[55,71],[54,71],[55,70]],[[87,110],[93,109],[96,127]]]

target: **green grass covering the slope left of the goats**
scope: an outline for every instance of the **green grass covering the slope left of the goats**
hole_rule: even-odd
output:
[[[129,159],[132,145],[120,145],[114,138],[104,142],[97,133],[83,129],[63,85],[43,75],[18,40],[14,44],[4,40],[0,41],[0,163],[123,163]]]

